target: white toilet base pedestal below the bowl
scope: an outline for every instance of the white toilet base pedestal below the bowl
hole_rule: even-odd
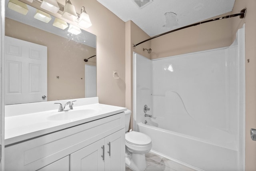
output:
[[[126,149],[125,164],[134,171],[144,171],[147,167],[145,153],[130,154]]]

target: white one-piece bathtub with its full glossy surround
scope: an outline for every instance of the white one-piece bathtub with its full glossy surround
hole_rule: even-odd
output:
[[[153,151],[195,169],[244,170],[244,35],[243,27],[229,47],[156,60],[134,53],[134,130]]]

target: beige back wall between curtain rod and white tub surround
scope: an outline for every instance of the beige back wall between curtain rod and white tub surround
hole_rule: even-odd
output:
[[[230,15],[230,13],[224,15]],[[232,43],[231,30],[231,20],[224,19],[166,34],[151,40],[153,49],[151,58],[163,58],[229,46]]]

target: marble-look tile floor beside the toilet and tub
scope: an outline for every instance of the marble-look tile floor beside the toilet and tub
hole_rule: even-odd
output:
[[[145,171],[194,171],[193,169],[190,169],[153,153],[146,154],[146,163],[147,167]],[[127,166],[125,170],[132,171],[132,169]]]

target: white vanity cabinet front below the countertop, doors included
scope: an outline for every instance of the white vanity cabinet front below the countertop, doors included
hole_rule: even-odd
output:
[[[125,171],[124,113],[7,144],[5,170]]]

